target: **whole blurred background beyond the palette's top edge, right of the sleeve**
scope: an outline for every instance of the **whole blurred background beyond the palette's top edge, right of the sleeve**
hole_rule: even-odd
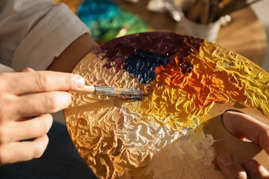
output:
[[[217,43],[269,72],[268,0],[54,1],[66,3],[99,44],[137,32],[176,32]]]

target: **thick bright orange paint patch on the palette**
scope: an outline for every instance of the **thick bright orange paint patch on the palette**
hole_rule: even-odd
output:
[[[198,108],[207,107],[212,103],[246,100],[242,83],[225,71],[216,71],[215,63],[192,55],[185,60],[193,65],[190,73],[181,72],[175,56],[167,65],[156,68],[157,83],[184,89],[188,92],[189,100],[195,99],[195,106]]]

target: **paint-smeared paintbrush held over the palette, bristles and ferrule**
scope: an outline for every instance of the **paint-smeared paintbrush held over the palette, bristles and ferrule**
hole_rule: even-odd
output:
[[[123,88],[91,86],[91,85],[85,85],[78,92],[102,95],[102,96],[112,96],[122,99],[134,99],[134,100],[142,100],[144,97],[143,91],[140,89],[123,89]]]

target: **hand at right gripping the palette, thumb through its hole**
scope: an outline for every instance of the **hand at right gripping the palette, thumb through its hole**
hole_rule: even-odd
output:
[[[224,112],[222,121],[232,135],[260,145],[269,154],[268,125],[235,111]],[[230,154],[220,154],[217,156],[217,164],[226,178],[269,178],[269,172],[254,159],[239,163]]]

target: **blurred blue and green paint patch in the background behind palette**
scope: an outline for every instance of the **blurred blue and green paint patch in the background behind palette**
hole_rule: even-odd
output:
[[[110,0],[84,0],[77,15],[98,43],[114,39],[123,28],[127,30],[126,34],[148,31],[148,25],[142,19]]]

